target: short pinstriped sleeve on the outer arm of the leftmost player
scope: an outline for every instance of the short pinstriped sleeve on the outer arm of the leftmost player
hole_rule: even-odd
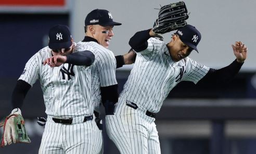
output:
[[[34,55],[26,63],[25,68],[21,73],[19,80],[23,80],[32,86],[38,78],[39,78],[39,60],[36,58],[36,55]]]

